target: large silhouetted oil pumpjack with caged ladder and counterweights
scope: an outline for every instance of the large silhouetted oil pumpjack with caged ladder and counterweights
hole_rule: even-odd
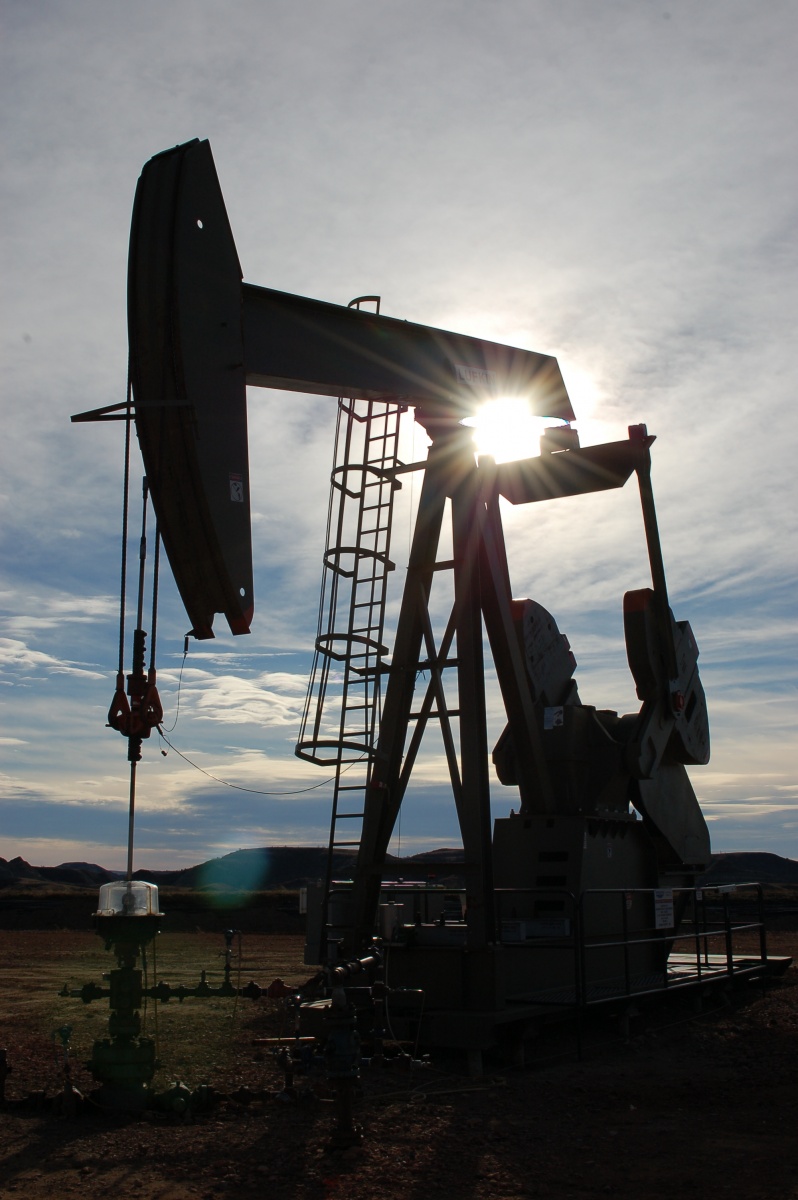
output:
[[[365,959],[379,934],[395,1020],[404,996],[425,1040],[482,1046],[590,989],[629,995],[630,980],[631,990],[667,982],[685,898],[709,860],[686,773],[709,758],[698,650],[668,602],[646,426],[581,446],[554,358],[396,320],[365,299],[344,307],[244,283],[209,144],[175,146],[145,164],[136,193],[132,397],[82,418],[134,420],[192,634],[208,638],[216,613],[236,635],[253,619],[246,386],[344,397],[296,748],[335,773],[308,961]],[[463,420],[497,396],[524,397],[559,422],[540,456],[476,460]],[[408,409],[430,440],[424,462],[397,457]],[[422,485],[389,655],[391,514],[412,470]],[[514,598],[500,499],[550,504],[632,475],[652,586],[623,599],[641,707],[618,715],[582,701],[554,616]],[[450,557],[439,558],[442,545]],[[444,578],[450,614],[436,636],[433,587]],[[492,755],[485,635],[506,714]],[[395,888],[386,902],[388,848],[431,724],[462,835],[462,862],[449,864],[464,882],[454,913],[438,904],[431,914],[422,888]],[[518,794],[496,822],[491,756]],[[336,880],[343,852],[350,878]],[[424,996],[415,1018],[414,995]]]

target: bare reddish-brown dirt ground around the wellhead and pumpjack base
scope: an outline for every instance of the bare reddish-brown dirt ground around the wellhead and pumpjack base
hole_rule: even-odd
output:
[[[170,983],[196,980],[199,962],[218,978],[218,938],[163,943],[160,974]],[[798,934],[772,935],[769,949],[798,956]],[[167,1066],[156,1086],[211,1084],[226,1098],[208,1115],[120,1117],[90,1103],[77,1116],[60,1114],[42,1098],[62,1082],[53,1030],[72,1024],[72,1078],[88,1096],[95,1085],[83,1062],[104,1033],[107,1008],[59,998],[58,989],[100,982],[113,961],[94,935],[14,930],[0,931],[0,1045],[12,1067],[0,1110],[2,1194],[798,1198],[794,968],[764,994],[744,986],[701,1013],[682,1000],[644,1012],[626,1031],[608,1015],[592,1020],[582,1061],[572,1030],[557,1028],[532,1045],[524,1067],[488,1062],[479,1079],[457,1058],[368,1068],[356,1103],[364,1140],[335,1151],[331,1098],[317,1085],[286,1099],[274,1054],[253,1045],[289,1032],[281,1006],[268,1000],[235,1009],[229,1001],[160,1006]],[[308,973],[301,938],[287,936],[247,938],[241,968],[244,982],[259,983]],[[306,1081],[296,1082],[301,1092]]]

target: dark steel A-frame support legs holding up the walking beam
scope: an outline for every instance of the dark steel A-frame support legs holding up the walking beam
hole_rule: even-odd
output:
[[[388,846],[431,716],[440,722],[463,842],[467,944],[476,949],[496,940],[484,623],[524,767],[522,799],[524,792],[534,791],[539,805],[552,803],[521,646],[512,626],[496,468],[490,461],[476,464],[470,431],[460,424],[437,422],[430,432],[433,440],[419,500],[354,871],[352,925],[343,938],[350,953],[356,953],[372,936]],[[437,553],[448,500],[454,557],[451,562],[440,563]],[[436,649],[428,606],[434,575],[444,569],[454,574],[454,610]],[[421,668],[428,670],[430,682],[414,713]],[[449,668],[457,672],[457,707],[454,710],[446,709],[442,678],[443,671]],[[456,720],[458,737],[452,731],[452,720]],[[415,728],[408,740],[414,721]]]

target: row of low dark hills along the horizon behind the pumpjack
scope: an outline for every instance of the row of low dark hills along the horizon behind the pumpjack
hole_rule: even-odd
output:
[[[341,851],[334,859],[334,875],[347,878],[352,874],[354,851]],[[424,880],[434,874],[442,882],[456,878],[462,850],[440,848],[407,858],[391,854],[385,859],[385,875],[395,878]],[[308,881],[320,880],[326,872],[326,848],[322,846],[266,846],[258,850],[235,850],[221,858],[212,858],[197,866],[179,871],[134,872],[134,878],[156,883],[161,888],[234,888],[260,892],[274,888],[295,889]],[[443,876],[443,878],[442,878]],[[0,858],[0,889],[29,882],[77,888],[98,888],[101,883],[124,878],[122,871],[109,871],[96,863],[61,863],[59,866],[31,866],[24,858],[6,862]],[[712,864],[702,877],[710,883],[758,882],[770,886],[798,887],[798,862],[779,854],[737,852],[713,854]]]

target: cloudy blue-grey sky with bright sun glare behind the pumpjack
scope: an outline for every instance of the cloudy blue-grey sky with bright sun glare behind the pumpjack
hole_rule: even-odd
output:
[[[0,0],[1,857],[125,864],[126,744],[106,728],[124,430],[70,415],[125,398],[136,181],[194,137],[247,282],[376,293],[391,317],[553,354],[583,444],[656,434],[670,599],[709,706],[691,779],[713,848],[798,857],[797,50],[792,0]],[[253,630],[217,618],[181,678],[164,566],[158,684],[178,721],[174,749],[144,746],[137,866],[326,841],[328,773],[293,748],[335,408],[251,392]],[[402,439],[422,456],[409,419]],[[134,450],[134,496],[139,474]],[[395,589],[416,500],[406,482]],[[514,593],[557,617],[583,701],[635,710],[634,481],[504,516]],[[434,739],[414,780],[391,848],[456,845]],[[496,815],[511,806],[497,785]]]

